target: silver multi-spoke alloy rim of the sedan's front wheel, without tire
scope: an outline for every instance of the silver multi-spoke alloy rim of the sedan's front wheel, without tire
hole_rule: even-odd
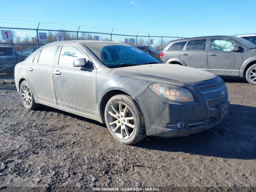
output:
[[[118,138],[128,139],[134,134],[134,116],[123,102],[114,102],[108,108],[108,124]]]

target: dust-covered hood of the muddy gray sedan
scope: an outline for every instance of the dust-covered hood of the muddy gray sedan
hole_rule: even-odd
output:
[[[215,74],[200,69],[167,63],[121,67],[116,68],[116,72],[137,78],[154,79],[157,82],[171,81],[177,85],[216,78]]]

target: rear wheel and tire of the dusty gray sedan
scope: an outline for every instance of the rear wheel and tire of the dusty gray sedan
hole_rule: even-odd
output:
[[[38,104],[34,100],[32,90],[25,80],[20,84],[20,98],[25,108],[33,110],[38,108]]]

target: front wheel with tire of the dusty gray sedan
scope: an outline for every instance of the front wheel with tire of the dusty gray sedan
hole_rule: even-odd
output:
[[[132,97],[126,94],[118,94],[108,100],[105,122],[110,134],[122,144],[132,145],[146,137],[142,112]]]

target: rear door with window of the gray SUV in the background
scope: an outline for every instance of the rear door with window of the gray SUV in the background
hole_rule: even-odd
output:
[[[207,70],[207,39],[190,40],[180,52],[180,58],[189,67]]]

